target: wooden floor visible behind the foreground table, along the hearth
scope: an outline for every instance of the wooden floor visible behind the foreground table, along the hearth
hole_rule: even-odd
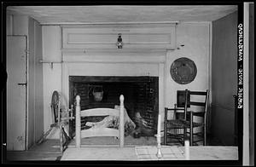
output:
[[[207,139],[207,146],[221,146],[218,140],[214,138]],[[59,147],[60,141],[58,140],[46,140],[40,145],[35,145],[31,147],[28,151],[8,151],[6,153],[7,162],[14,161],[58,161],[61,159],[62,153]],[[106,147],[111,144],[118,145],[119,140],[113,137],[92,137],[83,139],[82,143],[87,145],[87,147]],[[134,146],[156,146],[156,141],[154,137],[140,137],[133,138],[132,136],[125,137],[125,147],[134,147]],[[181,146],[180,143],[173,142],[173,146]],[[73,139],[69,147],[75,147],[75,140]],[[128,149],[128,148],[127,148]]]

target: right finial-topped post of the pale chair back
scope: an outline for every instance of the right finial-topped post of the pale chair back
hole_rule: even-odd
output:
[[[120,95],[120,112],[119,112],[119,139],[120,139],[120,147],[124,147],[124,141],[125,141],[125,120],[124,120],[124,95]]]

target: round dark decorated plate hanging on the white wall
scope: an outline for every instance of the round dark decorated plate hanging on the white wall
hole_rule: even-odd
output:
[[[196,66],[193,60],[186,57],[179,58],[172,62],[170,73],[176,83],[191,83],[196,76]]]

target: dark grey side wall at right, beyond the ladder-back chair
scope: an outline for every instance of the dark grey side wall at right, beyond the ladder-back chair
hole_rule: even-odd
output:
[[[236,26],[237,12],[212,22],[212,135],[224,145],[235,144]]]

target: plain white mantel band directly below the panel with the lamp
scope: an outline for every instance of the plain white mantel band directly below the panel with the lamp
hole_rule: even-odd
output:
[[[62,51],[63,62],[165,63],[166,49],[88,49]]]

